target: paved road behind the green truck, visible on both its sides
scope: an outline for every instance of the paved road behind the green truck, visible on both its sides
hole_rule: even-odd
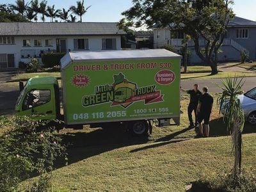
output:
[[[0,115],[10,115],[14,112],[15,102],[19,96],[19,83],[12,83],[10,86],[3,83],[10,80],[13,75],[15,75],[13,72],[0,72]],[[246,77],[245,79],[244,91],[256,86],[256,77]],[[200,89],[203,86],[208,86],[211,93],[221,92],[220,88],[216,86],[216,84],[221,83],[220,79],[182,80],[181,86],[184,89],[191,89],[195,83],[199,84]]]

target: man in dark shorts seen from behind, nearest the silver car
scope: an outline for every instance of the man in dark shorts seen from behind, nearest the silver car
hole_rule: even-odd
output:
[[[200,96],[198,100],[198,106],[196,109],[196,113],[198,114],[198,123],[199,123],[199,132],[201,136],[208,137],[209,136],[209,120],[212,112],[212,104],[213,98],[208,93],[208,88],[205,86],[203,88],[203,95]],[[204,120],[204,130],[202,121]]]

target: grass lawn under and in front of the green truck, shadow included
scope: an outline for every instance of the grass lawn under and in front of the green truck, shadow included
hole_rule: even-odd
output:
[[[180,126],[154,127],[148,138],[131,136],[124,129],[108,127],[73,131],[64,129],[68,166],[58,163],[53,172],[55,191],[185,191],[200,177],[230,171],[231,140],[218,115],[216,98],[210,122],[210,138],[195,139],[188,129],[189,95],[182,95]],[[254,132],[254,133],[252,133]],[[246,124],[243,166],[256,171],[255,126]],[[177,140],[172,140],[177,139]],[[21,188],[33,179],[22,182]]]

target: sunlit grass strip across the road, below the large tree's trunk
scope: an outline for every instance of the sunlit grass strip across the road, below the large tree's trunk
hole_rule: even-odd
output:
[[[211,72],[209,73],[195,73],[195,74],[181,74],[181,79],[219,79],[225,78],[228,76],[238,76],[238,77],[254,77],[256,76],[255,72],[218,72],[218,74],[211,76]]]

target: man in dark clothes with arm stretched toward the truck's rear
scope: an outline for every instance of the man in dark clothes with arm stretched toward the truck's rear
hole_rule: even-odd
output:
[[[202,93],[198,90],[198,84],[194,84],[193,90],[184,90],[181,88],[183,92],[186,92],[190,95],[190,101],[188,105],[188,119],[189,119],[189,127],[194,127],[193,124],[193,118],[192,118],[192,112],[195,113],[195,126],[198,126],[198,120],[196,115],[196,107],[198,104],[198,99],[202,95]]]

